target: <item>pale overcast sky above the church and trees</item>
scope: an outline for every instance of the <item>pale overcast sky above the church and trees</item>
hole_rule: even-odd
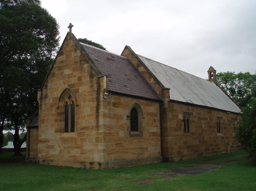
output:
[[[256,0],[41,0],[69,31],[121,54],[144,57],[207,79],[217,72],[256,71]]]

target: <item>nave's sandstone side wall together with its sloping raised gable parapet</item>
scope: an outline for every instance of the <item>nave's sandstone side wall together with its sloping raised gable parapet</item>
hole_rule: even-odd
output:
[[[235,118],[239,122],[241,115],[170,102],[169,89],[163,88],[153,78],[151,72],[143,66],[129,48],[125,47],[122,56],[128,57],[134,63],[163,99],[161,120],[165,160],[190,159],[224,153],[228,151],[228,147],[230,152],[240,148],[235,139],[232,139],[232,119]],[[186,111],[192,112],[195,119],[190,123],[190,133],[184,133],[183,112]],[[217,134],[217,116],[223,117],[220,134]]]

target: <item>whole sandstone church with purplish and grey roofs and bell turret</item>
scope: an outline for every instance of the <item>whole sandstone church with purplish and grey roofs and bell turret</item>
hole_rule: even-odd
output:
[[[107,169],[237,151],[240,109],[208,78],[68,32],[26,121],[27,159]]]

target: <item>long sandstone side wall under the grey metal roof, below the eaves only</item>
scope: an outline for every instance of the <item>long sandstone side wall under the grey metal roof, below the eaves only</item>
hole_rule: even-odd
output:
[[[168,142],[169,157],[166,160],[191,159],[226,153],[228,147],[230,152],[240,148],[232,134],[233,119],[239,123],[241,115],[175,102],[168,105],[169,128],[165,141]],[[184,133],[183,112],[192,114],[189,133]],[[217,117],[222,117],[221,133],[217,133]]]

